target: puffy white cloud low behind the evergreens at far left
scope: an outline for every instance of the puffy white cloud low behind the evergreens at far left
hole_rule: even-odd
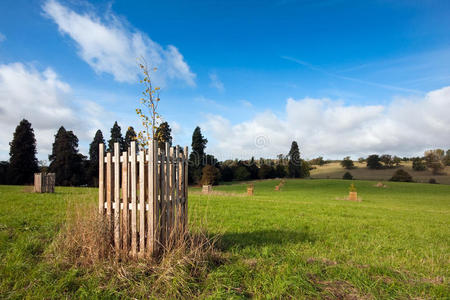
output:
[[[47,159],[58,128],[73,130],[87,143],[93,128],[111,122],[98,104],[74,99],[71,87],[51,69],[36,70],[22,63],[0,65],[0,159],[8,159],[9,142],[20,120],[30,121],[37,140],[38,156]],[[86,153],[86,149],[82,149]]]

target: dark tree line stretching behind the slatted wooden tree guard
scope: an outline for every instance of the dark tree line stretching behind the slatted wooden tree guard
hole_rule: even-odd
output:
[[[167,122],[161,123],[155,131],[155,139],[160,149],[168,142],[172,145],[171,128]],[[110,130],[110,139],[105,142],[101,130],[97,130],[89,145],[89,156],[79,152],[78,137],[71,130],[61,126],[55,134],[52,152],[45,165],[36,158],[36,138],[31,123],[23,119],[16,127],[10,142],[9,161],[0,162],[0,184],[31,184],[36,172],[55,173],[56,184],[60,186],[98,186],[99,144],[106,145],[107,151],[119,143],[120,151],[126,151],[131,141],[137,139],[133,127],[128,127],[125,137],[117,122]],[[266,179],[266,178],[304,178],[309,176],[309,164],[300,158],[297,142],[292,142],[287,155],[280,154],[277,160],[227,160],[219,162],[205,149],[208,140],[200,127],[192,134],[189,155],[188,179],[190,184],[217,184],[219,181]],[[139,147],[137,147],[139,148]]]

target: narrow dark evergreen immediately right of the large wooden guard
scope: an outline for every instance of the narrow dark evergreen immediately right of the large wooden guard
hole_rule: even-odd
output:
[[[208,140],[202,135],[200,127],[194,129],[192,134],[192,150],[189,155],[188,178],[190,183],[197,183],[202,177],[202,168],[205,166],[205,148]]]

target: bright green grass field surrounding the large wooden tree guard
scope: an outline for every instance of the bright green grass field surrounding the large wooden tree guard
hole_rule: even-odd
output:
[[[362,202],[342,200],[349,181],[277,180],[191,189],[191,224],[220,234],[223,257],[186,286],[199,298],[439,299],[450,295],[450,186],[355,181]],[[96,189],[32,194],[0,186],[0,297],[148,298],[151,274],[122,283],[95,269],[64,268],[46,253],[70,201]],[[176,288],[180,283],[174,279]],[[147,288],[142,288],[146,286]],[[145,293],[142,291],[146,291]]]

